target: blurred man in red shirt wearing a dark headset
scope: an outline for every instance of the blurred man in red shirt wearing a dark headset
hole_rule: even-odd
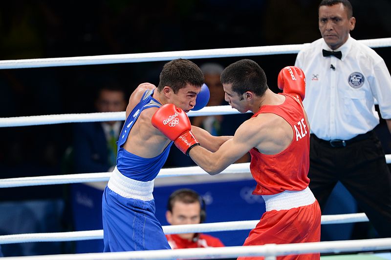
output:
[[[205,201],[194,190],[178,189],[170,195],[166,219],[171,225],[199,224],[205,218]],[[172,249],[224,246],[217,237],[201,233],[171,234],[166,237]]]

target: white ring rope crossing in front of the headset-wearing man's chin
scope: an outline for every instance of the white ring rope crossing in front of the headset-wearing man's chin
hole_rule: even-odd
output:
[[[322,215],[321,224],[343,224],[368,222],[365,213]],[[164,234],[204,233],[219,231],[250,230],[255,228],[259,220],[228,221],[202,224],[163,226]],[[0,244],[25,243],[25,242],[53,242],[53,241],[78,241],[103,239],[103,230],[16,234],[0,236]]]

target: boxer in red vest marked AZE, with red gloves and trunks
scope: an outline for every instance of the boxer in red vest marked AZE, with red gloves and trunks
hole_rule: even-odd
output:
[[[254,115],[216,152],[197,145],[186,114],[173,105],[159,108],[152,117],[152,125],[211,175],[250,151],[250,171],[257,181],[253,194],[263,197],[266,212],[245,240],[245,246],[319,241],[321,211],[308,188],[307,178],[309,124],[301,103],[305,95],[303,71],[297,67],[283,68],[278,79],[283,93],[275,94],[268,88],[261,67],[245,59],[228,66],[221,73],[221,83],[225,100],[233,108],[241,113],[251,111]],[[167,127],[163,121],[175,113],[178,124]],[[319,260],[320,254],[277,259]]]

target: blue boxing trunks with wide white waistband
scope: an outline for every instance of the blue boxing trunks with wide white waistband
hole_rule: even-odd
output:
[[[102,198],[104,252],[171,249],[154,215],[152,190],[153,181],[136,181],[114,169]]]

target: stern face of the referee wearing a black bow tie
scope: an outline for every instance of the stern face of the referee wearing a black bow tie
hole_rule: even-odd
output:
[[[319,30],[328,47],[341,47],[354,29],[356,19],[348,18],[348,11],[342,3],[319,7]]]

